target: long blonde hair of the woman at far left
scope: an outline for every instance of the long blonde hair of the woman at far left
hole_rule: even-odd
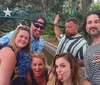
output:
[[[13,47],[14,51],[16,51],[16,49],[15,49],[16,48],[15,38],[16,38],[17,34],[20,32],[20,30],[26,30],[29,33],[29,35],[30,35],[28,44],[25,47],[22,48],[25,51],[30,52],[31,33],[30,33],[30,28],[28,26],[26,26],[26,25],[18,26],[16,28],[16,30],[14,31],[14,34],[13,34],[11,40],[10,40],[10,42],[8,43],[8,45],[11,45]]]

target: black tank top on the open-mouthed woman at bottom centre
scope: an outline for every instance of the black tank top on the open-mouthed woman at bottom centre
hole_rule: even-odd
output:
[[[36,80],[34,78],[34,74],[32,72],[32,69],[29,71],[29,75],[30,75],[30,78],[32,80],[32,85],[38,85],[38,83],[36,82]],[[47,83],[48,82],[48,69],[47,68],[45,69],[45,80]]]

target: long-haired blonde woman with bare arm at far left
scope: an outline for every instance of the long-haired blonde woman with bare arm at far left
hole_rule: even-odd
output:
[[[0,85],[10,85],[11,76],[17,63],[16,54],[19,50],[30,52],[30,28],[16,28],[11,41],[0,50]]]

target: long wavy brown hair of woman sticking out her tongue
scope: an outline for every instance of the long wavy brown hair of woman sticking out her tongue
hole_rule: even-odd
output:
[[[71,68],[71,78],[72,78],[73,85],[80,85],[81,76],[80,76],[78,61],[70,53],[60,53],[60,54],[57,54],[54,58],[53,74],[56,77],[56,79],[55,79],[56,85],[62,85],[62,82],[57,79],[56,67],[55,67],[55,62],[59,58],[64,58],[65,60],[67,60],[69,62],[70,68]]]

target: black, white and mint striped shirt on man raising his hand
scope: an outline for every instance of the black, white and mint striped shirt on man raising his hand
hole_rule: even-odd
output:
[[[82,60],[87,46],[87,41],[79,34],[71,37],[63,35],[59,38],[56,54],[69,52],[75,56],[76,59]]]

